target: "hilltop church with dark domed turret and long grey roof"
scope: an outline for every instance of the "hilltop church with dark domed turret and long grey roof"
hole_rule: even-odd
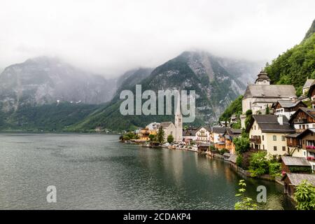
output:
[[[265,71],[260,71],[255,84],[247,85],[242,99],[242,112],[251,110],[253,114],[265,113],[266,107],[279,100],[296,99],[293,85],[270,85],[270,78]]]

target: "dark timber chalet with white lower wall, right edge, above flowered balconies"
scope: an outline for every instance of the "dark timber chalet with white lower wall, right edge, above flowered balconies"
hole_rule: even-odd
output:
[[[300,107],[293,113],[289,123],[294,126],[297,133],[304,132],[308,128],[315,128],[315,109]]]

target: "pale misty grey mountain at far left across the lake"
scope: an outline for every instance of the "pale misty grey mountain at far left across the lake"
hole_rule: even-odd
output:
[[[51,57],[27,59],[0,74],[2,111],[57,102],[102,104],[116,91],[116,80],[88,73]]]

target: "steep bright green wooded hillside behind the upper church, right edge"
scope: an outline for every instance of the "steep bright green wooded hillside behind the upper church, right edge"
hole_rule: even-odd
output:
[[[301,93],[307,78],[315,78],[315,20],[300,44],[290,48],[267,64],[273,83],[292,84]]]

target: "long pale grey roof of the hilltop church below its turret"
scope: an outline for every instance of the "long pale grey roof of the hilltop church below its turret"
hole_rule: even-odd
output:
[[[244,99],[248,97],[296,98],[293,85],[248,85]]]

